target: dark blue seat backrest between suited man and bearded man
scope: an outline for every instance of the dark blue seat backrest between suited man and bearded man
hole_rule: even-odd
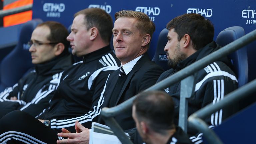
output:
[[[168,59],[166,57],[166,52],[164,51],[164,47],[167,43],[167,35],[168,35],[168,30],[166,28],[164,28],[158,37],[158,41],[157,41],[157,47],[156,47],[156,52],[155,55],[153,57],[153,61],[156,62],[156,64],[158,64],[159,66],[161,66],[164,70],[168,70],[170,69],[167,66],[167,62]]]

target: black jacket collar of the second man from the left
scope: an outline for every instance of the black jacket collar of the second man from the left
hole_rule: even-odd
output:
[[[106,53],[110,53],[110,52],[113,52],[113,50],[111,50],[110,48],[110,45],[107,45],[101,49],[98,49],[96,51],[93,51],[91,53],[88,53],[83,57],[83,63],[87,63],[87,62],[90,62],[90,61],[94,61],[100,57],[102,57],[102,55],[106,54]]]

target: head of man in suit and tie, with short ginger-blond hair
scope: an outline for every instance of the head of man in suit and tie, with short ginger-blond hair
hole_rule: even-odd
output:
[[[147,52],[155,25],[142,12],[119,11],[112,30],[116,57],[126,64]]]

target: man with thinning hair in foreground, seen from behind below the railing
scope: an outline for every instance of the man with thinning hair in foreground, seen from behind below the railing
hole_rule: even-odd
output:
[[[139,94],[133,101],[132,117],[137,132],[147,144],[191,144],[187,134],[175,126],[174,103],[164,92]]]

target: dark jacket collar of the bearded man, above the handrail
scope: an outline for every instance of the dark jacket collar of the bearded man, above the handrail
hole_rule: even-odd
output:
[[[185,68],[186,66],[194,63],[195,61],[198,61],[199,59],[207,56],[208,54],[210,54],[218,49],[220,49],[220,46],[217,43],[215,43],[215,41],[212,41],[209,44],[207,44],[205,47],[196,51],[194,54],[192,54],[188,58],[186,58],[183,61],[181,61],[180,63],[178,63],[175,70],[179,71],[179,70]],[[223,61],[227,65],[230,65],[227,57],[221,58],[220,61]]]

